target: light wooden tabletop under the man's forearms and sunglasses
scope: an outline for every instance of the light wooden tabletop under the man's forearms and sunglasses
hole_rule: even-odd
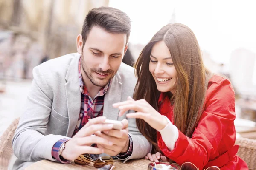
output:
[[[114,170],[147,170],[148,164],[151,161],[146,159],[134,159],[129,160],[125,164],[122,161],[114,162]],[[27,167],[25,170],[96,170],[95,167],[91,165],[81,166],[77,164],[61,164],[58,162],[53,162],[49,160],[42,160],[35,162],[34,164]]]

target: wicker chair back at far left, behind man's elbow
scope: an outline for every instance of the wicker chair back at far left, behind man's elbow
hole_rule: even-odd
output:
[[[15,119],[0,137],[0,170],[7,170],[12,157],[12,138],[20,118]]]

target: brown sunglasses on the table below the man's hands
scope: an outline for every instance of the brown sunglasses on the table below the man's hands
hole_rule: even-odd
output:
[[[114,160],[110,156],[101,156],[97,159],[92,158],[90,154],[80,155],[75,161],[75,164],[79,165],[89,165],[93,163],[93,166],[98,170],[113,170]]]

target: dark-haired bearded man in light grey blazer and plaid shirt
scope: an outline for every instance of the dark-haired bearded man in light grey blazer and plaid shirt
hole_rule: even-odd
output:
[[[107,153],[124,161],[150,153],[151,144],[135,120],[119,117],[112,107],[132,96],[137,82],[134,69],[122,63],[130,29],[122,11],[94,8],[77,37],[78,53],[34,68],[26,109],[12,141],[18,158],[15,169],[42,159],[69,163],[84,153]],[[113,130],[103,124],[105,119],[122,120],[123,129]]]

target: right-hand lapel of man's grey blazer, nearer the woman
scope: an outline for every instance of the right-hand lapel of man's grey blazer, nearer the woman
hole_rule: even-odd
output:
[[[104,98],[103,116],[107,119],[117,120],[118,119],[118,108],[113,108],[113,103],[121,101],[122,94],[122,83],[120,82],[120,75],[117,72],[111,81],[111,85]]]

